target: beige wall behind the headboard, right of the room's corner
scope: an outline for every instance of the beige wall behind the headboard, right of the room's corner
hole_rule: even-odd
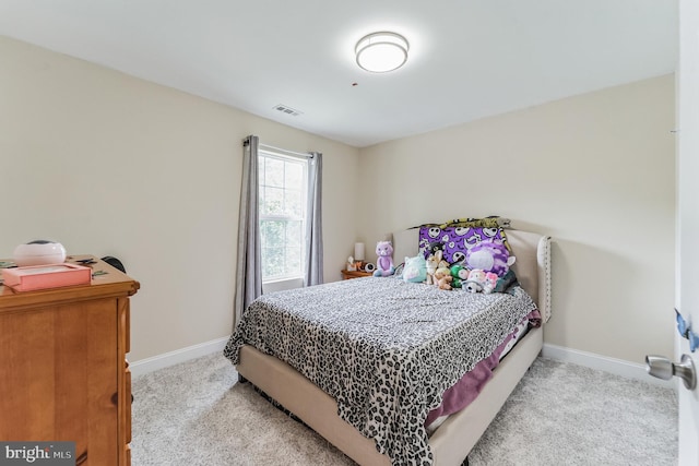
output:
[[[358,236],[510,217],[555,240],[547,343],[672,354],[673,129],[667,75],[365,148]]]

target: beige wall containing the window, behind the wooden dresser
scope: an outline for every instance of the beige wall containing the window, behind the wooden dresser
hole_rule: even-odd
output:
[[[141,283],[131,360],[230,333],[248,134],[323,153],[325,279],[339,278],[358,150],[8,38],[0,57],[0,256],[47,238],[121,259]]]

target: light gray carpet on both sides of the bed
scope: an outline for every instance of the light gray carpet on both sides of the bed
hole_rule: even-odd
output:
[[[220,354],[133,379],[132,465],[353,465],[237,383]],[[469,455],[481,465],[675,465],[674,392],[538,358]]]

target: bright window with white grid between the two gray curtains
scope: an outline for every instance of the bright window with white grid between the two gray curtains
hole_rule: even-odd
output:
[[[307,160],[259,151],[262,280],[304,276]]]

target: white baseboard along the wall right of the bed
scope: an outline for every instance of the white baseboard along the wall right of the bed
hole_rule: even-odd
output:
[[[627,379],[639,380],[641,382],[647,382],[665,389],[676,387],[676,384],[672,380],[662,380],[649,375],[645,371],[645,365],[637,365],[623,359],[608,358],[606,356],[595,355],[594,353],[580,351],[577,349],[565,348],[562,346],[550,345],[548,343],[544,344],[542,356],[609,372]]]

